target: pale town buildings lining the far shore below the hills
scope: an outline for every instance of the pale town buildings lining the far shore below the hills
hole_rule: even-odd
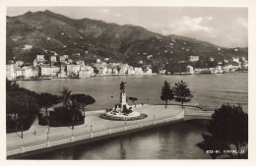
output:
[[[28,46],[26,46],[28,47]],[[151,65],[144,68],[133,67],[125,63],[108,63],[109,58],[103,60],[96,59],[92,65],[85,65],[84,60],[74,61],[69,58],[69,55],[55,55],[45,59],[44,55],[36,55],[32,65],[26,65],[24,61],[12,60],[6,66],[6,78],[10,81],[19,80],[44,80],[44,79],[82,79],[97,76],[138,76],[138,75],[170,75],[166,70],[160,70],[158,73],[153,73]],[[189,56],[189,63],[199,61],[199,56]],[[209,58],[210,62],[215,61],[214,58]],[[180,61],[179,63],[185,63]],[[138,61],[138,64],[143,64],[143,61]],[[174,75],[194,75],[194,74],[224,74],[229,72],[247,72],[248,61],[244,58],[232,57],[232,62],[218,62],[215,68],[193,68],[186,66],[186,70]]]

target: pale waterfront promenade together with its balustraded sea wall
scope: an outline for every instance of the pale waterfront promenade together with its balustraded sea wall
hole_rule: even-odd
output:
[[[133,110],[147,114],[148,117],[135,121],[111,121],[99,118],[104,110],[86,112],[85,124],[71,127],[51,127],[33,123],[29,131],[24,132],[24,138],[19,133],[7,134],[7,159],[17,159],[65,148],[72,145],[89,143],[105,138],[114,138],[130,133],[168,125],[192,119],[211,119],[214,111],[203,111],[199,107],[180,105],[137,105]],[[36,131],[36,134],[33,133]]]

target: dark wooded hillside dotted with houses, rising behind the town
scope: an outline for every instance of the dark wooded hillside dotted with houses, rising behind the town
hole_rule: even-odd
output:
[[[24,45],[32,48],[23,49]],[[84,59],[88,64],[104,57],[134,65],[138,61],[151,65],[183,61],[190,55],[219,61],[248,57],[247,48],[234,51],[194,38],[163,36],[146,28],[90,19],[73,20],[50,11],[7,17],[7,61],[15,56],[32,63],[36,54],[49,56],[54,52]]]

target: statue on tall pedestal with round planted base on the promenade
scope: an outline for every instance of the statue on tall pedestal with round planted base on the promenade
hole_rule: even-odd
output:
[[[103,119],[119,120],[119,121],[129,121],[146,118],[147,115],[141,114],[139,112],[133,111],[127,103],[124,82],[120,83],[120,100],[116,103],[113,108],[106,109],[104,115],[99,117]]]

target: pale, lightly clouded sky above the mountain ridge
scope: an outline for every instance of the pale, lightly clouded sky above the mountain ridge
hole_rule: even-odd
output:
[[[248,46],[247,8],[223,7],[9,7],[7,16],[50,10],[72,19],[89,18],[177,34],[223,47]]]

